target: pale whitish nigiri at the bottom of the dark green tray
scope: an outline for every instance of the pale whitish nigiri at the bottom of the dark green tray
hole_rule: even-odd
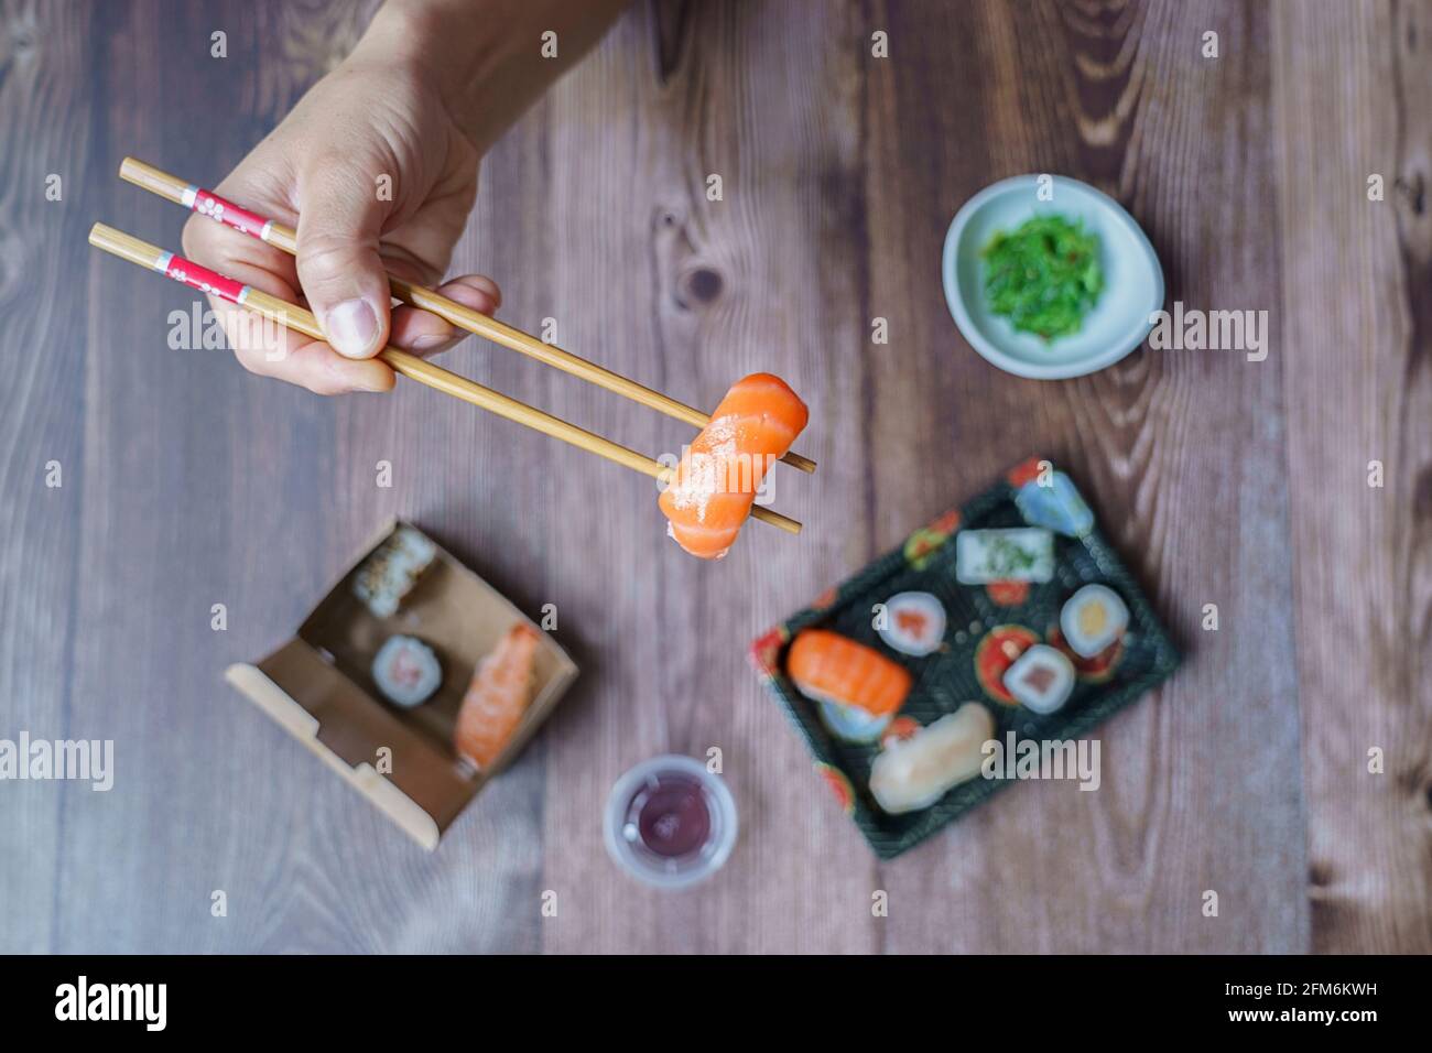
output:
[[[928,808],[979,774],[994,716],[978,702],[941,716],[905,739],[891,741],[871,765],[871,795],[891,815]]]

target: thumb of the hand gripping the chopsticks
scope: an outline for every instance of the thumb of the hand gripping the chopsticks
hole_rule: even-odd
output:
[[[388,277],[378,235],[391,202],[349,163],[312,165],[298,179],[298,281],[324,335],[347,358],[388,342]]]

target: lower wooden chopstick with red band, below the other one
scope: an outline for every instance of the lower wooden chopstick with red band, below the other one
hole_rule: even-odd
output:
[[[90,228],[89,241],[95,248],[103,249],[120,259],[127,259],[150,271],[159,271],[168,278],[202,289],[203,292],[212,292],[231,304],[248,308],[314,340],[324,340],[324,331],[311,311],[278,297],[271,297],[262,289],[255,289],[252,285],[242,285],[232,278],[225,278],[173,252],[165,252],[158,245],[150,245],[105,223],[95,223]],[[498,417],[526,424],[530,428],[541,431],[544,436],[560,438],[564,443],[594,453],[599,457],[606,457],[609,461],[616,461],[652,479],[664,480],[672,471],[664,464],[624,446],[619,446],[610,438],[603,438],[586,428],[579,428],[576,424],[569,424],[560,417],[553,417],[526,403],[518,403],[516,398],[508,398],[498,391],[483,387],[467,377],[460,377],[455,372],[444,370],[441,365],[434,365],[400,348],[384,348],[377,357],[391,365],[395,372],[401,372],[410,380],[427,384],[430,388],[495,413]],[[752,506],[750,517],[780,527],[790,534],[800,533],[799,521],[759,504]]]

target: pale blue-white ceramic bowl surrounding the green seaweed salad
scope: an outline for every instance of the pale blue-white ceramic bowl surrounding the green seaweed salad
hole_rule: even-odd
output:
[[[969,345],[1001,370],[1034,380],[1083,377],[1113,365],[1148,335],[1151,315],[1163,308],[1163,268],[1117,201],[1065,176],[1051,176],[1053,199],[1040,201],[1040,178],[1001,179],[964,203],[945,235],[945,299]],[[1078,332],[1045,342],[990,311],[979,252],[997,232],[1051,212],[1083,219],[1084,229],[1098,235],[1104,291]]]

